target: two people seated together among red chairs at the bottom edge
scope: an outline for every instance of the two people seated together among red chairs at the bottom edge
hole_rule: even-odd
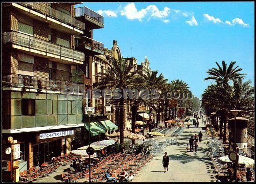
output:
[[[105,177],[106,177],[106,180],[109,182],[117,182],[117,179],[115,177],[112,177],[112,173],[110,173],[110,169],[106,171]],[[118,177],[120,178],[119,182],[131,182],[132,179],[134,179],[133,172],[130,171],[130,173],[128,174],[125,169],[122,169],[122,173],[120,173]]]

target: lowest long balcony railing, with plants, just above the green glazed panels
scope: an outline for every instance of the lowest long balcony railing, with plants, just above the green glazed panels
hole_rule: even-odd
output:
[[[43,77],[24,77],[20,75],[2,76],[2,86],[28,87],[34,89],[52,90],[52,91],[69,91],[83,92],[83,84],[63,80],[49,80]]]

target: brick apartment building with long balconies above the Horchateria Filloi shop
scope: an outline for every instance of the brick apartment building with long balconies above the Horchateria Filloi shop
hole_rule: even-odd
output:
[[[93,29],[104,24],[102,16],[75,4],[2,4],[2,158],[11,162],[6,182],[75,149],[87,122],[82,107],[93,82],[91,58],[104,53]],[[6,154],[8,147],[14,153]]]

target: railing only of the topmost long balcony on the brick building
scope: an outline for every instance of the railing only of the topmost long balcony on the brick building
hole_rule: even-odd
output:
[[[70,26],[74,26],[80,30],[85,29],[85,25],[83,22],[76,20],[73,16],[70,16],[67,13],[64,13],[62,11],[59,11],[57,9],[53,9],[51,6],[49,6],[46,3],[39,3],[39,2],[20,2],[17,3],[19,5],[22,5],[24,7],[27,7],[29,9],[33,9],[34,11],[37,11],[39,13],[42,13],[46,16],[49,16],[51,18],[54,18],[56,20],[59,20],[65,24],[69,24]]]

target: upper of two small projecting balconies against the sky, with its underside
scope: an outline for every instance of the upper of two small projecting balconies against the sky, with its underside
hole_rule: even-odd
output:
[[[89,29],[104,28],[103,16],[87,7],[75,8],[76,19],[85,23]]]

